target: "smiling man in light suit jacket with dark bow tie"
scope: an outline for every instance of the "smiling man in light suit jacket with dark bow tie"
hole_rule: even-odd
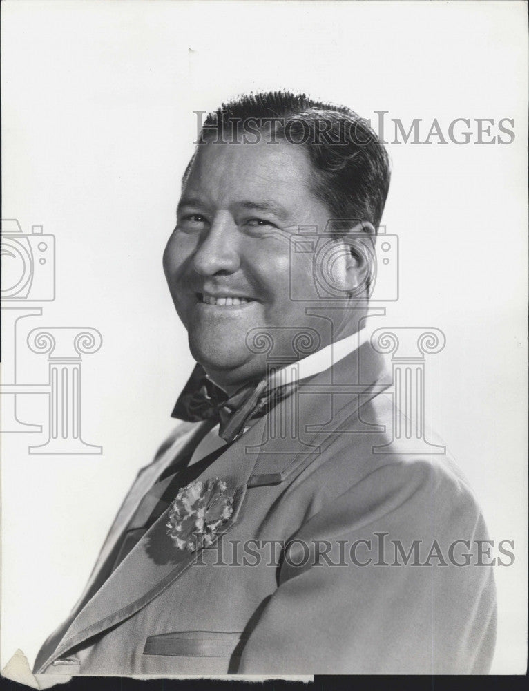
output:
[[[185,422],[36,672],[488,671],[481,511],[447,455],[395,442],[409,419],[365,326],[388,188],[342,106],[266,93],[208,117],[164,253],[198,363]]]

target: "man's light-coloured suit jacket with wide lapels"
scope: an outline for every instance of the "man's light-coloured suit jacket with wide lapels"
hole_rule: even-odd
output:
[[[448,455],[376,448],[392,440],[390,383],[369,343],[303,381],[202,474],[235,493],[213,549],[175,549],[166,512],[108,577],[142,496],[196,445],[202,423],[180,425],[140,471],[35,672],[488,672],[496,605],[492,568],[476,565],[483,516]],[[474,558],[455,565],[465,551]]]

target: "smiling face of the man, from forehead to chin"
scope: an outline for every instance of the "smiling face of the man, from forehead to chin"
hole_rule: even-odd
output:
[[[291,281],[298,294],[314,294],[311,257],[290,263],[291,236],[298,225],[321,232],[329,220],[309,190],[310,173],[305,151],[287,142],[199,146],[164,271],[193,357],[224,388],[266,372],[265,355],[247,346],[251,330],[269,333],[277,355],[291,352],[292,327],[321,325],[290,297]],[[334,266],[344,285],[345,264]]]

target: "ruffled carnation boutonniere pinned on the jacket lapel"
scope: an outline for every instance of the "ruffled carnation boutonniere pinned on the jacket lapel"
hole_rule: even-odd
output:
[[[193,480],[182,487],[171,504],[167,534],[177,549],[209,547],[232,513],[233,493],[227,491],[223,480]]]

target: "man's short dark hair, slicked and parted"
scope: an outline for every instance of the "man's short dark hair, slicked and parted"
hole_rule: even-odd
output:
[[[222,141],[227,131],[233,136],[234,127],[240,133],[242,125],[245,131],[247,123],[253,123],[252,135],[269,123],[271,141],[277,141],[273,135],[278,135],[305,147],[314,171],[312,191],[333,218],[368,220],[378,227],[389,190],[389,157],[366,120],[350,108],[303,93],[251,93],[209,113],[198,146],[211,141],[213,134],[216,141]]]

